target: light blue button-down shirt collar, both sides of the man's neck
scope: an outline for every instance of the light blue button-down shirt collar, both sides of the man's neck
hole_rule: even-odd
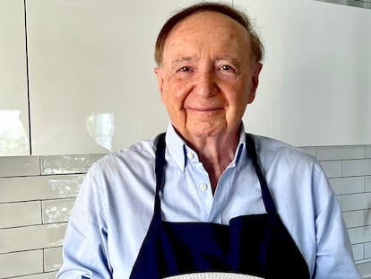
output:
[[[188,156],[189,153],[193,154],[194,158],[192,160],[198,161],[197,153],[195,153],[194,150],[191,147],[189,147],[179,135],[177,135],[177,131],[175,130],[174,126],[172,126],[171,123],[168,124],[165,141],[168,152],[170,153],[173,160],[176,161],[178,167],[182,171],[185,171],[186,161],[189,160],[187,154]],[[239,161],[241,158],[241,154],[245,150],[245,146],[246,146],[245,126],[241,122],[241,127],[239,131],[239,142],[237,145],[235,158],[233,159],[233,161],[230,162],[229,167],[237,166],[237,170],[239,170],[238,167]]]

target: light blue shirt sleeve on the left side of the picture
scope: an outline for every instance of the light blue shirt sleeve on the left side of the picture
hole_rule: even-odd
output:
[[[107,208],[99,165],[88,171],[70,215],[57,279],[111,278]]]

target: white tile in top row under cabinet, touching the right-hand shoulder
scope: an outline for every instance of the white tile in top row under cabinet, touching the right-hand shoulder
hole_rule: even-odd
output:
[[[364,159],[364,158],[365,158],[364,145],[317,147],[317,159],[319,161]]]

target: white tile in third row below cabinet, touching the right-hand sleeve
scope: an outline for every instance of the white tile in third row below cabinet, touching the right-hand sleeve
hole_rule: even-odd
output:
[[[363,177],[329,179],[336,195],[363,193],[365,179]]]

